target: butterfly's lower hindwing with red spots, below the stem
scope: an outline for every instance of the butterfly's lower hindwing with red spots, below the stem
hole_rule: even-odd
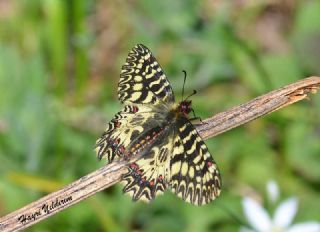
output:
[[[151,201],[162,194],[170,181],[170,154],[172,152],[173,130],[166,127],[157,130],[148,147],[140,154],[140,158],[128,165],[128,172],[123,176],[124,193],[132,196],[134,201]]]

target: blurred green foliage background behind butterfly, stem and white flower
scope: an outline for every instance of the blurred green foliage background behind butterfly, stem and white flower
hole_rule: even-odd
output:
[[[0,1],[0,215],[104,165],[94,151],[120,109],[129,50],[148,46],[202,118],[320,75],[319,1]],[[243,196],[275,179],[320,220],[320,96],[207,141],[223,178],[212,204],[171,193],[132,203],[114,186],[27,231],[238,231]],[[237,220],[236,220],[237,219]]]

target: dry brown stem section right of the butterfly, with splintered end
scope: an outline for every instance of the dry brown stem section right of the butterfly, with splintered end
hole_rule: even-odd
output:
[[[211,138],[265,114],[308,98],[307,95],[309,93],[316,93],[319,88],[320,77],[309,77],[297,81],[247,103],[218,113],[204,120],[204,123],[197,126],[197,130],[203,139]]]

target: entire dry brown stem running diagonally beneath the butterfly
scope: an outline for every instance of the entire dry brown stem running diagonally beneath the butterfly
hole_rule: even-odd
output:
[[[310,77],[257,97],[204,120],[197,130],[204,139],[221,134],[262,115],[307,98],[320,88],[320,77]],[[50,217],[73,204],[119,182],[126,172],[125,162],[106,165],[11,214],[0,218],[0,231],[17,231]]]

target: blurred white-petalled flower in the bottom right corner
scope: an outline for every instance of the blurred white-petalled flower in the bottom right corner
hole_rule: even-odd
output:
[[[251,198],[244,198],[242,205],[252,229],[241,227],[240,232],[320,232],[318,222],[291,225],[298,209],[298,200],[294,197],[282,202],[273,217]]]

